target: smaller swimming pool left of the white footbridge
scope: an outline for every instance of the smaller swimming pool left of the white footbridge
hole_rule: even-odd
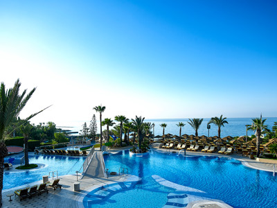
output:
[[[4,171],[3,189],[11,189],[42,180],[42,176],[48,175],[51,171],[57,171],[58,175],[74,174],[75,171],[80,170],[84,159],[86,157],[66,157],[62,155],[29,156],[30,164],[44,164],[44,168],[19,172]],[[18,159],[15,160],[15,164],[17,163]]]

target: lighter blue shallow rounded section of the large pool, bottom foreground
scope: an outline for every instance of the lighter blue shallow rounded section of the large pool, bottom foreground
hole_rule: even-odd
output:
[[[163,207],[168,193],[174,190],[149,177],[139,182],[119,182],[95,189],[84,197],[83,205],[85,208]]]

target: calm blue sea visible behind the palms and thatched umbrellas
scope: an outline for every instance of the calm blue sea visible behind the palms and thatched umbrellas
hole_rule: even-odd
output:
[[[97,118],[98,119],[98,118]],[[245,125],[251,125],[253,118],[227,118],[226,121],[228,121],[228,124],[225,124],[224,127],[221,128],[221,137],[231,136],[231,137],[240,137],[246,135],[246,126]],[[262,118],[267,119],[265,121],[265,124],[268,125],[268,128],[272,130],[272,126],[274,125],[274,122],[277,122],[277,117],[270,117],[270,118]],[[208,132],[207,124],[208,121],[211,119],[203,119],[202,124],[200,125],[200,128],[198,130],[198,135],[202,136],[217,136],[217,126],[211,123],[211,129]],[[187,134],[187,135],[195,135],[195,130],[188,124],[188,119],[145,119],[145,122],[151,122],[154,123],[154,135],[163,135],[163,128],[161,127],[161,123],[166,123],[166,129],[165,134],[172,134],[172,135],[179,135],[180,128],[177,126],[177,123],[183,122],[186,125],[181,129],[181,135]],[[82,124],[84,122],[73,122],[73,123],[67,123],[66,125],[74,126],[74,128],[71,128],[70,130],[76,131],[80,133],[80,130],[82,129]],[[117,123],[117,122],[116,122]],[[89,122],[87,122],[87,125],[89,125]],[[100,125],[99,121],[97,121],[98,125],[98,133],[100,133]],[[110,128],[111,129],[111,128]],[[102,126],[102,130],[106,130],[106,126]],[[153,130],[152,130],[153,131]],[[253,135],[253,130],[249,130],[247,132],[247,135]]]

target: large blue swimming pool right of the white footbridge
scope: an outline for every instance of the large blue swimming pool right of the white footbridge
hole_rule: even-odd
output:
[[[277,207],[277,177],[243,166],[240,161],[228,157],[184,157],[154,151],[136,157],[125,150],[104,158],[109,171],[128,168],[129,174],[142,180],[132,189],[118,191],[93,203],[93,207],[163,207],[168,193],[174,189],[163,187],[153,175],[204,191],[199,196],[222,200],[232,207]]]

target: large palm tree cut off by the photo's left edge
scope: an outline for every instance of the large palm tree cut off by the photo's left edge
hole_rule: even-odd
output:
[[[8,155],[5,139],[8,135],[10,135],[10,133],[13,132],[7,132],[7,128],[12,120],[19,116],[21,110],[25,107],[26,103],[29,101],[36,89],[33,88],[28,94],[26,94],[27,89],[24,89],[22,94],[19,94],[20,86],[21,83],[18,79],[15,82],[15,86],[10,89],[6,90],[4,83],[1,83],[0,87],[0,207],[2,205],[3,163],[4,157]],[[46,110],[46,108],[44,110]],[[25,122],[44,110],[31,114],[25,119]]]

